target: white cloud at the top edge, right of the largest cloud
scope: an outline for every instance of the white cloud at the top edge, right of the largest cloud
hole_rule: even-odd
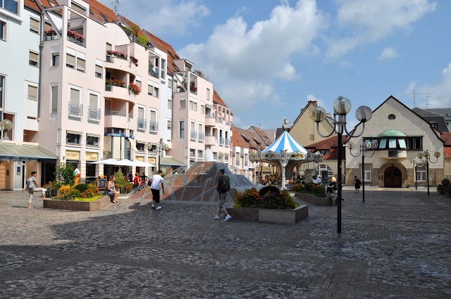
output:
[[[388,37],[395,30],[409,30],[412,23],[435,11],[432,0],[339,0],[338,32],[328,39],[328,58]]]

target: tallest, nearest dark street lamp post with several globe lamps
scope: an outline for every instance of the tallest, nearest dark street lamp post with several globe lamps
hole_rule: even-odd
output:
[[[365,129],[365,122],[371,119],[373,112],[367,106],[360,106],[355,111],[355,116],[357,120],[359,120],[359,124],[362,123],[362,132],[357,135],[352,135],[350,132],[347,132],[346,128],[346,115],[351,110],[351,102],[347,98],[343,96],[338,96],[338,98],[333,102],[333,131],[330,134],[323,135],[319,131],[319,123],[326,119],[326,110],[324,108],[317,106],[310,111],[310,118],[314,122],[316,122],[316,131],[318,134],[324,138],[332,136],[332,134],[337,133],[338,137],[338,191],[337,191],[337,232],[341,234],[341,191],[342,191],[342,134],[344,132],[347,135],[352,136],[354,138],[361,136]]]

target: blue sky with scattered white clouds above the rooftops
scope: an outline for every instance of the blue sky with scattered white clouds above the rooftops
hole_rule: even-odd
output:
[[[101,0],[113,8],[113,0]],[[292,125],[308,101],[333,113],[390,95],[451,107],[449,0],[118,0],[118,13],[210,78],[248,129]]]

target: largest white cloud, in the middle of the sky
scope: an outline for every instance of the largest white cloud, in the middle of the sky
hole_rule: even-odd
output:
[[[317,51],[314,42],[328,19],[314,0],[276,6],[269,18],[250,26],[241,16],[217,25],[203,44],[180,49],[207,76],[227,105],[245,113],[264,102],[282,105],[273,88],[275,79],[299,79],[290,63],[294,55]]]

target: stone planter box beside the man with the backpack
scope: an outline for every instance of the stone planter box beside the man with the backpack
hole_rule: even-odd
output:
[[[227,208],[233,220],[247,220],[275,223],[297,223],[309,216],[309,206],[299,205],[293,210]]]

